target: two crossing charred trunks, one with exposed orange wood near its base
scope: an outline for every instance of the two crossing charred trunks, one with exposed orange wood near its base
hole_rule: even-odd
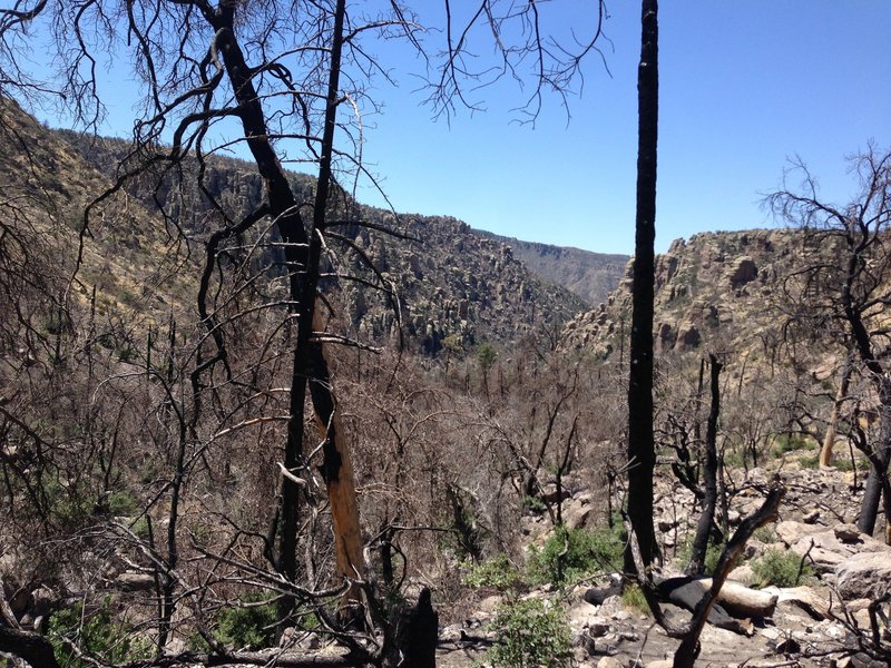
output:
[[[303,463],[304,402],[309,383],[316,425],[324,439],[322,473],[332,508],[337,571],[342,577],[354,580],[363,569],[353,469],[340,425],[325,352],[322,343],[313,336],[315,330],[321,330],[321,318],[317,316],[315,302],[322,250],[321,235],[325,227],[332,181],[331,161],[336,110],[340,101],[337,89],[345,2],[344,0],[337,1],[333,16],[325,125],[312,227],[309,234],[284,169],[270,144],[263,107],[252,79],[253,70],[247,66],[235,37],[236,7],[237,3],[223,2],[208,20],[217,31],[217,43],[223,55],[226,73],[238,101],[238,117],[242,120],[248,148],[264,180],[270,215],[275,220],[284,242],[290,298],[293,304],[296,304],[298,323],[291,379],[291,404],[284,465],[288,471],[293,471]],[[300,488],[295,481],[283,477],[276,528],[278,553],[275,561],[276,568],[290,579],[296,576],[297,570],[298,491]],[[359,602],[359,589],[352,584],[346,592],[345,601],[352,603]]]

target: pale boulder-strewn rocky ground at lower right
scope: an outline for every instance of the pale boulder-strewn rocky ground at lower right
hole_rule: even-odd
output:
[[[737,631],[707,625],[702,635],[697,666],[885,666],[852,651],[864,637],[871,637],[870,603],[891,592],[891,547],[861,534],[852,524],[858,512],[859,494],[852,489],[853,474],[835,469],[797,469],[784,462],[777,471],[738,472],[743,482],[728,513],[733,522],[761,504],[768,478],[779,475],[787,489],[781,517],[773,530],[760,530],[746,549],[746,560],[732,578],[752,584],[755,576],[751,560],[767,549],[792,551],[814,571],[807,584],[795,588],[770,587],[776,597],[770,615],[741,620]],[[861,477],[862,480],[862,477]],[[587,519],[589,497],[580,491],[567,501],[570,522]],[[657,495],[657,524],[666,556],[676,552],[678,538],[687,531],[692,499],[677,484],[665,483]],[[879,525],[883,527],[880,517]],[[532,532],[533,533],[533,532]],[[677,564],[668,563],[664,577],[675,574]],[[620,666],[670,666],[679,641],[669,638],[653,618],[627,608],[618,596],[599,605],[596,598],[604,581],[576,587],[568,596],[575,658],[579,667],[618,668]],[[527,596],[556,600],[557,593],[544,590]],[[587,599],[587,600],[586,600]],[[496,638],[487,632],[500,596],[482,599],[477,610],[461,623],[441,633],[439,666],[464,668],[484,665],[484,651]],[[691,613],[665,605],[676,622]],[[888,602],[878,606],[879,645],[891,651]]]

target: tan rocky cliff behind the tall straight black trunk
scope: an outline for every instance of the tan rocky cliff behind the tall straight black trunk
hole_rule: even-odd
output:
[[[781,335],[782,282],[801,263],[801,234],[789,229],[703,233],[656,259],[658,353],[770,345]],[[619,287],[570,322],[564,345],[609,357],[630,322],[631,263]],[[627,332],[626,332],[627,335]]]

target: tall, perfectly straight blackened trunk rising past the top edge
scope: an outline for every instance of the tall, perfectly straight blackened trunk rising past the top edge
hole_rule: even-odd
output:
[[[628,518],[644,567],[657,553],[653,528],[653,293],[658,138],[658,3],[644,0],[637,68],[638,144],[630,374],[628,377]],[[626,562],[629,562],[626,559]],[[640,573],[644,574],[644,573]]]

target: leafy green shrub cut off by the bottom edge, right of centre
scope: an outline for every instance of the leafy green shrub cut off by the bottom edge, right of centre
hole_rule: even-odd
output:
[[[491,630],[498,644],[487,652],[487,659],[495,667],[572,665],[571,633],[562,608],[547,607],[540,599],[506,603],[496,612]]]

